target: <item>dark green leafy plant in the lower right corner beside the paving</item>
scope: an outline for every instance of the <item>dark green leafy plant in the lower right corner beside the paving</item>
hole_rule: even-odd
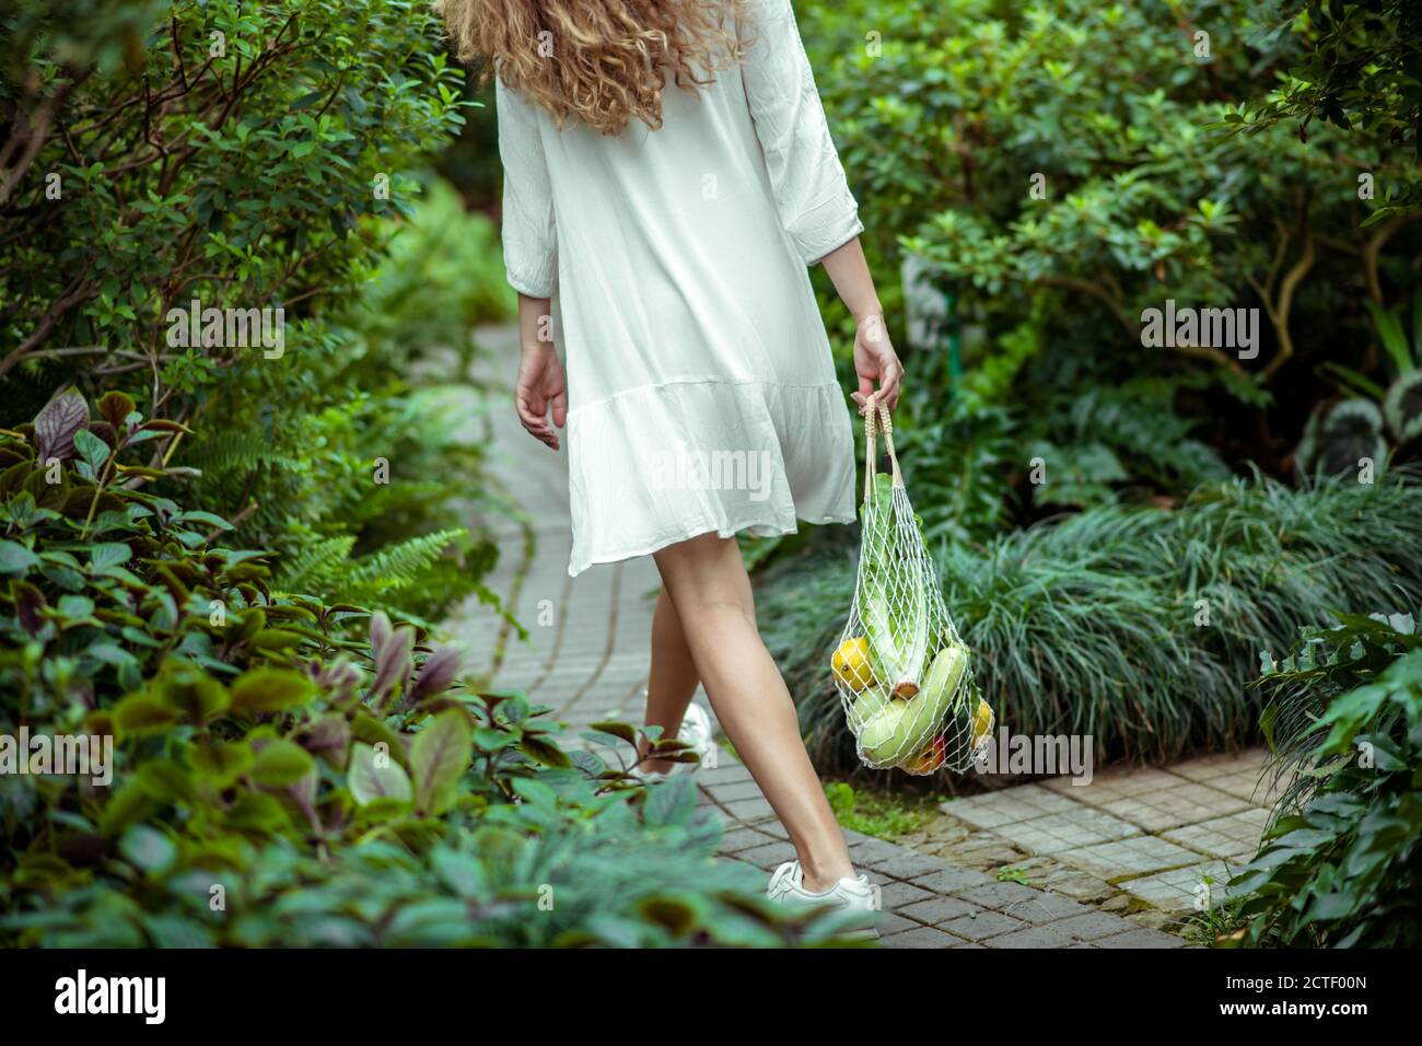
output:
[[[1422,640],[1412,615],[1311,630],[1260,680],[1290,784],[1230,881],[1243,932],[1284,948],[1422,944]]]

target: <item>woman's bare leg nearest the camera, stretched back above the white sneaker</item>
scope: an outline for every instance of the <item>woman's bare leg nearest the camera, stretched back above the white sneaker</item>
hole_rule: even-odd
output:
[[[741,549],[704,534],[661,549],[656,562],[717,719],[789,833],[805,888],[829,889],[853,865],[805,753],[795,703],[755,628]]]

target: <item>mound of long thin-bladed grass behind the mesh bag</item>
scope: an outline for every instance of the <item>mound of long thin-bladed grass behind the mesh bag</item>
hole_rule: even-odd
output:
[[[1091,734],[1099,761],[1166,761],[1257,737],[1246,685],[1261,648],[1379,599],[1422,602],[1419,512],[1406,470],[1305,491],[1256,475],[1202,487],[1179,509],[1103,505],[985,548],[941,542],[936,562],[998,722]],[[855,766],[829,677],[855,558],[778,564],[758,596],[822,767]]]

